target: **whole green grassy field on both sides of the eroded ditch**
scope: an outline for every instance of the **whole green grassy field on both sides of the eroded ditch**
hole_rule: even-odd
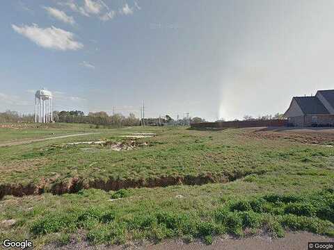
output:
[[[72,238],[90,244],[200,238],[209,244],[225,233],[243,237],[266,231],[282,237],[288,229],[334,236],[333,147],[254,136],[251,129],[0,128],[1,142],[45,138],[50,132],[95,134],[0,147],[3,186],[43,183],[43,192],[49,192],[74,179],[145,185],[154,178],[198,176],[216,183],[6,196],[0,201],[1,239],[30,238],[42,247]],[[136,149],[113,151],[110,143],[129,140],[122,138],[129,133],[156,136],[137,139]],[[110,143],[66,144],[100,140]]]

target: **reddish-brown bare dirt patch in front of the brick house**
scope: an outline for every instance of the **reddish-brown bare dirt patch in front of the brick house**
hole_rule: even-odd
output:
[[[303,144],[334,145],[334,128],[251,128],[252,138],[286,139]]]

